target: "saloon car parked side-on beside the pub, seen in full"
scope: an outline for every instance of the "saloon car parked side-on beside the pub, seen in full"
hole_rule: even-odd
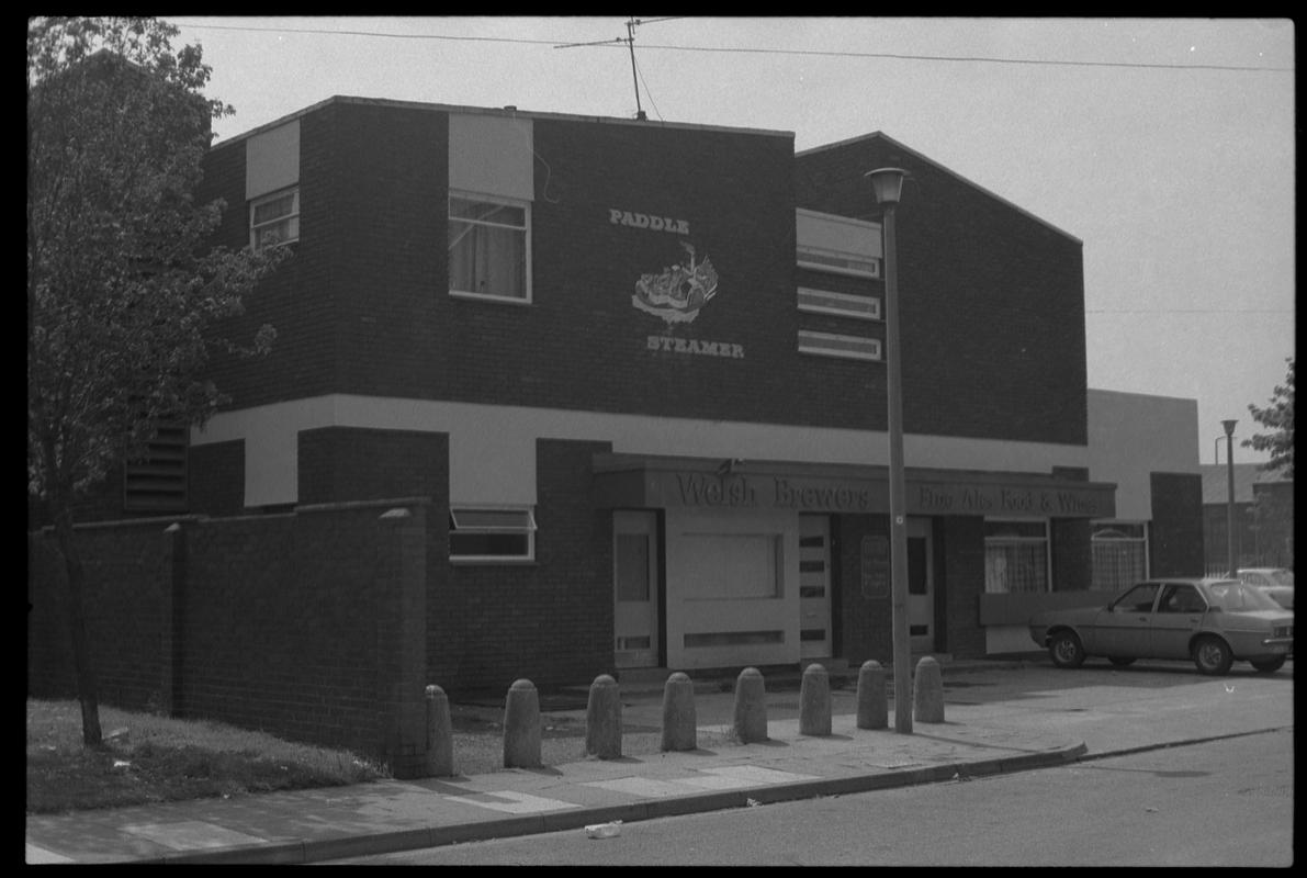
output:
[[[1294,614],[1236,579],[1157,579],[1107,606],[1036,613],[1030,636],[1059,668],[1099,656],[1121,666],[1136,658],[1191,658],[1212,675],[1248,661],[1273,673],[1293,655]]]

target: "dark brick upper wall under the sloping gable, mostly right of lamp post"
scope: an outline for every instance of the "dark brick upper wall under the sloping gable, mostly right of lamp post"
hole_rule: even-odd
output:
[[[1086,443],[1082,246],[893,142],[795,159],[797,206],[878,220],[874,167],[911,178],[897,212],[903,426]]]

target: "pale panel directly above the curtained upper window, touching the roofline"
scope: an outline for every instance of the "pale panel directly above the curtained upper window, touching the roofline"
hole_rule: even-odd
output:
[[[531,119],[450,114],[450,188],[535,199],[535,127]]]

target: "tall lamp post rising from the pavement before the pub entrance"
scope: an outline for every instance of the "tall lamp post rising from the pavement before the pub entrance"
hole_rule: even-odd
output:
[[[907,486],[903,477],[903,361],[899,357],[898,252],[894,208],[907,171],[881,167],[868,171],[876,200],[884,208],[885,234],[885,363],[890,438],[890,618],[894,632],[894,730],[912,733],[912,649],[907,625]]]

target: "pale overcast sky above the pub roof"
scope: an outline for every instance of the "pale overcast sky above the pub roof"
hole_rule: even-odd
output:
[[[1090,387],[1196,398],[1201,463],[1223,418],[1266,460],[1238,443],[1295,345],[1289,20],[647,17],[638,105],[622,16],[169,21],[220,140],[336,94],[885,132],[1084,242]]]

